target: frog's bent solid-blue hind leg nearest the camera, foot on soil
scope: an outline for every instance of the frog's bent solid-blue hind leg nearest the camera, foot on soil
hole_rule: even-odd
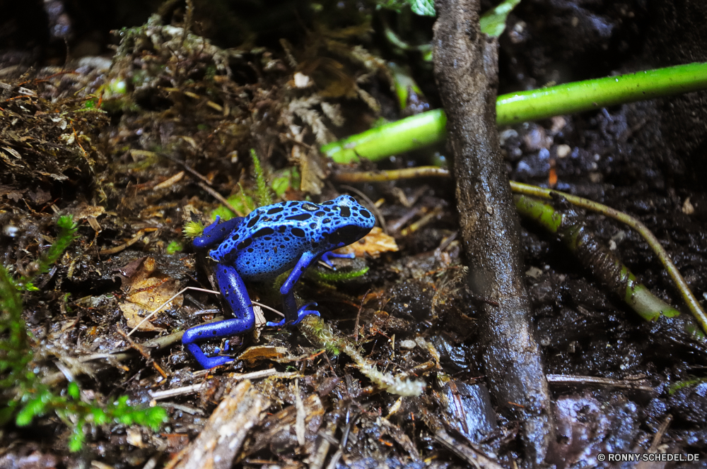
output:
[[[204,368],[218,367],[218,365],[232,361],[233,358],[222,356],[206,357],[196,342],[211,338],[235,336],[250,331],[255,324],[255,314],[253,314],[248,291],[245,289],[243,279],[240,278],[235,268],[226,266],[223,263],[217,264],[216,280],[218,280],[218,288],[221,290],[221,295],[226,298],[235,319],[200,324],[188,329],[182,336],[182,343],[194,355],[201,367]]]

